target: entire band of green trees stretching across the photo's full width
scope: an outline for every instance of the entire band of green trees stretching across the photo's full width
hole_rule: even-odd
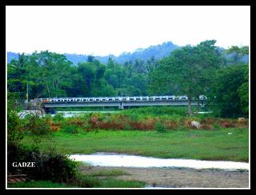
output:
[[[166,58],[106,64],[94,56],[74,66],[65,55],[49,51],[19,54],[7,64],[7,90],[12,97],[60,97],[204,94],[222,117],[248,116],[249,66],[242,61],[248,46],[218,50],[216,41],[183,46]],[[225,58],[231,54],[231,58]],[[191,104],[188,106],[190,115]]]

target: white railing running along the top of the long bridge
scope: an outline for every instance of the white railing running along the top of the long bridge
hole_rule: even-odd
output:
[[[200,95],[199,100],[206,100],[206,96]],[[39,102],[102,102],[102,101],[187,101],[184,96],[132,96],[132,97],[90,97],[90,98],[38,98]]]

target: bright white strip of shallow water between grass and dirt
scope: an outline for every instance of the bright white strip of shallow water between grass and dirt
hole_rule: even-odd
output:
[[[246,162],[201,161],[173,158],[164,159],[116,153],[72,154],[70,155],[70,158],[75,161],[83,161],[94,166],[249,170],[249,163]]]

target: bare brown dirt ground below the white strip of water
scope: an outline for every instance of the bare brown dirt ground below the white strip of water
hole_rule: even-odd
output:
[[[129,181],[144,181],[147,185],[165,188],[249,188],[249,172],[226,170],[128,168],[82,166],[83,173],[100,170],[122,169],[126,175],[112,178]],[[103,178],[103,177],[102,177]]]

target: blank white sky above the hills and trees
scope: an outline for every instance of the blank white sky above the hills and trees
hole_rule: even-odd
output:
[[[250,6],[6,6],[6,51],[119,55],[173,42],[250,46]]]

